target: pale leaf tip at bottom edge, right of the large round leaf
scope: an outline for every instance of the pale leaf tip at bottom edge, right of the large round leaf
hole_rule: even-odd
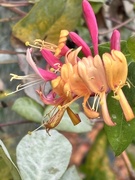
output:
[[[60,180],[81,180],[77,169],[75,166],[71,166],[67,169],[67,171],[64,173],[64,175],[61,177]]]

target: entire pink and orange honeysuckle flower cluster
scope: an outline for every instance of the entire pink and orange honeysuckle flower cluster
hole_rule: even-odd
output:
[[[36,73],[37,83],[42,80],[43,82],[49,81],[52,85],[52,90],[48,94],[44,94],[42,87],[37,90],[42,102],[57,108],[57,111],[45,123],[47,130],[58,125],[65,111],[68,112],[73,124],[78,124],[80,118],[69,106],[79,98],[83,98],[82,107],[88,118],[99,117],[100,105],[105,123],[114,126],[115,123],[109,115],[106,102],[107,94],[111,90],[114,92],[113,98],[120,102],[126,120],[130,121],[134,118],[134,113],[122,91],[122,87],[128,84],[126,82],[128,67],[126,58],[120,51],[120,33],[117,30],[113,32],[110,53],[104,53],[100,57],[98,27],[93,9],[87,0],[82,1],[82,8],[93,44],[93,54],[78,34],[67,30],[61,31],[58,46],[35,40],[33,47],[40,48],[42,56],[49,64],[46,70],[36,66],[32,59],[32,49],[27,49],[26,60]],[[69,49],[66,46],[67,36],[76,44],[77,49]],[[30,45],[28,42],[26,44]],[[83,53],[82,58],[79,57],[79,52]],[[64,63],[61,57],[64,57]],[[12,76],[12,79],[22,79],[14,74]],[[89,103],[90,97],[94,99],[92,105]]]

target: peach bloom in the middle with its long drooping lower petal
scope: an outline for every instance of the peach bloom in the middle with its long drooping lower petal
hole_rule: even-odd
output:
[[[106,104],[105,93],[109,88],[100,56],[96,55],[94,58],[91,56],[83,58],[82,61],[78,62],[78,72],[87,88],[95,94],[95,98],[98,98],[98,103],[100,101],[105,123],[109,126],[114,126],[115,123],[110,118]]]

